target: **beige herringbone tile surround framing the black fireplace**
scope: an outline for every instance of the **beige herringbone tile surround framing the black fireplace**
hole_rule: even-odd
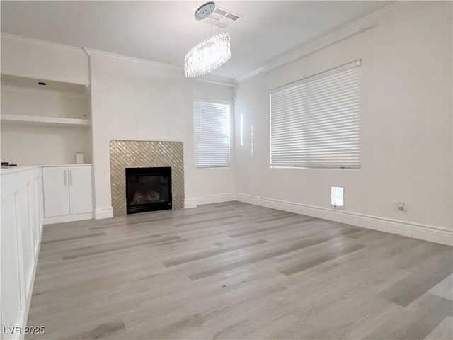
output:
[[[184,208],[183,142],[110,141],[110,185],[113,215],[126,215],[126,168],[171,166],[173,209]]]

